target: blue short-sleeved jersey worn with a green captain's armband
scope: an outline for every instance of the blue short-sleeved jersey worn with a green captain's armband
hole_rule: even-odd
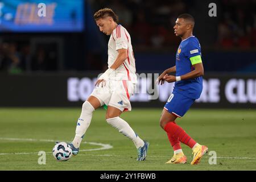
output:
[[[190,36],[181,41],[176,53],[176,76],[185,75],[193,71],[193,64],[201,63],[201,47],[195,36]],[[197,99],[203,90],[203,78],[196,77],[175,82],[174,92]]]

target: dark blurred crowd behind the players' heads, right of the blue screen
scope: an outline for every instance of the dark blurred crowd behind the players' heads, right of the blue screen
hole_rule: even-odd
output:
[[[173,33],[174,22],[180,14],[196,14],[198,3],[195,2],[188,0],[91,1],[94,11],[110,7],[117,13],[119,23],[131,32],[133,44],[137,48],[176,46],[180,40]],[[256,1],[220,0],[216,2],[217,9],[220,8],[217,15],[217,39],[213,45],[207,46],[256,47]],[[204,26],[200,18],[196,19],[196,24]]]

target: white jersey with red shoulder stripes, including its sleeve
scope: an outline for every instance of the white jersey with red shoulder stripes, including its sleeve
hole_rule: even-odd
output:
[[[119,24],[112,32],[108,43],[108,67],[110,68],[118,56],[118,49],[127,49],[127,59],[123,61],[114,73],[110,75],[110,80],[129,80],[137,82],[135,59],[131,37],[127,30]]]

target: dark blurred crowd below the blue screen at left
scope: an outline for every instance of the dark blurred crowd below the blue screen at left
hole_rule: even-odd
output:
[[[0,43],[0,71],[21,73],[23,71],[56,70],[56,56],[46,47],[38,46],[31,51],[30,44],[6,42]]]

